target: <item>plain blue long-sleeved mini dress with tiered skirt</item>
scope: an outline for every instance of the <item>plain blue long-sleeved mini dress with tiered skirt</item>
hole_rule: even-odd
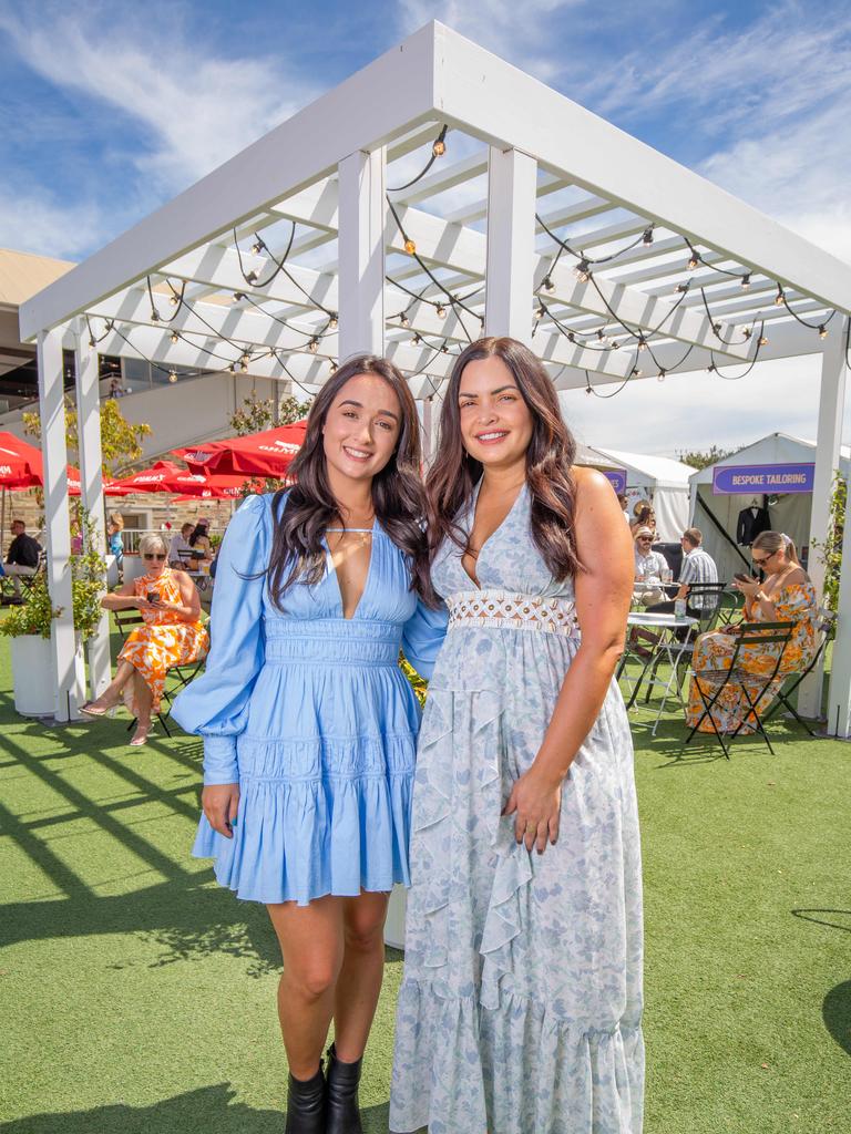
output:
[[[330,553],[320,582],[295,584],[279,610],[264,574],[271,502],[248,497],[228,525],[207,669],[172,710],[204,738],[204,784],[239,784],[233,838],[202,816],[193,854],[253,902],[407,886],[420,706],[398,653],[429,677],[445,609],[418,600],[405,555],[376,522],[352,618]]]

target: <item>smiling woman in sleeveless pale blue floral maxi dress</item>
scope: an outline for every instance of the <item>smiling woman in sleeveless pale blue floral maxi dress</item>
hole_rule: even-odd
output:
[[[612,486],[534,355],[467,347],[429,472],[449,610],[420,736],[390,1128],[639,1134],[641,864]]]

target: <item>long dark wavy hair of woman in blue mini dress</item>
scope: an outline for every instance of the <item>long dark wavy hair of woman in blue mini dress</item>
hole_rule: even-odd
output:
[[[376,355],[355,355],[339,366],[317,395],[307,415],[304,442],[289,466],[295,484],[276,492],[272,500],[275,531],[268,576],[269,593],[279,609],[295,583],[315,585],[325,573],[322,540],[339,513],[339,505],[328,483],[322,429],[334,399],[359,374],[382,378],[399,400],[398,441],[388,463],[372,480],[372,507],[384,530],[408,559],[412,589],[427,602],[435,601],[423,531],[426,494],[420,477],[416,405],[391,362]]]

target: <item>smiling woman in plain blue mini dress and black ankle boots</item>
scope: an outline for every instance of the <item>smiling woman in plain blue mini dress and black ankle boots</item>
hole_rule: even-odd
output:
[[[423,602],[416,407],[393,364],[339,367],[292,472],[228,526],[207,670],[175,717],[204,737],[194,854],[280,942],[287,1134],[356,1134],[388,894],[408,882],[420,710],[398,653],[429,676],[446,626]]]

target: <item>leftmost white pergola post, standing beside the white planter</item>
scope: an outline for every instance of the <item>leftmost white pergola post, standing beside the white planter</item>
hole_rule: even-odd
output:
[[[37,340],[39,412],[44,460],[44,513],[50,602],[60,615],[51,623],[50,649],[57,721],[77,714],[77,667],[70,575],[68,454],[65,443],[62,332],[41,331]]]

